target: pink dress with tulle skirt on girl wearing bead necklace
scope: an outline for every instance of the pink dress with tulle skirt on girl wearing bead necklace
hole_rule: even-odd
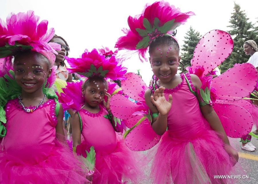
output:
[[[18,99],[7,103],[0,183],[90,183],[68,146],[56,139],[55,105],[49,99],[28,113]]]

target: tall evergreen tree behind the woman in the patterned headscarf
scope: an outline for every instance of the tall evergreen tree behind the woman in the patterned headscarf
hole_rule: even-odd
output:
[[[250,55],[245,55],[243,51],[243,45],[247,40],[258,41],[258,30],[254,27],[252,22],[248,22],[249,18],[245,11],[241,10],[241,7],[234,3],[234,12],[228,26],[231,30],[228,33],[234,40],[234,49],[231,55],[220,65],[221,72],[225,72],[229,68],[232,68],[235,63],[246,63]]]

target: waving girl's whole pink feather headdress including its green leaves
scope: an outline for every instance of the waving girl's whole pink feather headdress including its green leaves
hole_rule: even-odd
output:
[[[126,35],[118,39],[115,47],[118,50],[136,50],[140,60],[147,61],[145,54],[150,43],[159,36],[175,36],[175,28],[184,24],[192,15],[195,15],[192,11],[183,13],[174,5],[164,1],[146,5],[142,14],[134,18],[128,17],[130,29],[122,30]]]

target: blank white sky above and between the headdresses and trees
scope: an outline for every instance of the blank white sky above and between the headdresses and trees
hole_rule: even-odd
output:
[[[103,45],[114,50],[116,40],[123,35],[121,29],[128,28],[128,16],[140,14],[146,3],[153,2],[155,1],[0,0],[0,18],[5,20],[10,12],[34,10],[40,20],[48,20],[48,26],[54,27],[56,34],[67,41],[71,49],[69,57],[79,57],[86,48],[91,50]],[[177,28],[176,38],[180,46],[183,45],[183,37],[190,26],[201,35],[213,29],[228,30],[226,26],[229,25],[233,12],[233,0],[168,2],[179,7],[182,12],[193,11],[196,14],[185,25]],[[235,2],[241,6],[241,10],[245,10],[250,21],[257,21],[257,0]],[[125,61],[124,65],[128,72],[137,73],[137,69],[140,69],[143,80],[149,83],[153,73],[148,62],[142,64],[135,56]]]

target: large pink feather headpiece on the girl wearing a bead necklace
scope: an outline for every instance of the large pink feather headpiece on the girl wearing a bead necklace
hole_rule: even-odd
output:
[[[48,43],[54,36],[54,28],[48,30],[48,21],[42,20],[29,10],[26,13],[13,14],[6,22],[0,19],[0,58],[13,55],[17,50],[32,50],[46,56],[51,64],[55,61],[57,43]]]

